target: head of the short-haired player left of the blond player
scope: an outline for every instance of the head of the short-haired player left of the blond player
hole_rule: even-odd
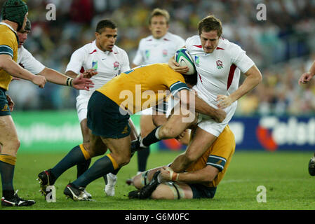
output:
[[[116,24],[112,20],[101,20],[95,31],[96,45],[102,51],[111,51],[117,39]]]

